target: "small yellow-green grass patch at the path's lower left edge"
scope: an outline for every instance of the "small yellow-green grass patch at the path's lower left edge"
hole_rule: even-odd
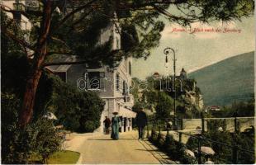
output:
[[[75,164],[78,162],[78,158],[80,156],[80,153],[69,151],[69,150],[63,150],[58,151],[50,156],[47,163],[48,164]],[[38,156],[33,156],[31,158],[31,163],[40,163],[40,158]]]

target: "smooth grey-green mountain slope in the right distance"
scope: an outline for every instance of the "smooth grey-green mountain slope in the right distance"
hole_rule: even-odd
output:
[[[188,73],[188,78],[196,79],[206,106],[247,101],[254,94],[254,52]]]

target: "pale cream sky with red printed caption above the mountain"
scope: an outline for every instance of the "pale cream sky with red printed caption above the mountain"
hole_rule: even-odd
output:
[[[191,29],[167,22],[159,47],[150,51],[149,58],[133,59],[132,77],[145,79],[155,72],[164,75],[173,73],[173,54],[168,55],[170,63],[165,64],[166,47],[175,50],[176,73],[180,73],[182,68],[190,73],[223,59],[254,51],[254,29],[254,17],[207,25],[197,22],[192,24]]]

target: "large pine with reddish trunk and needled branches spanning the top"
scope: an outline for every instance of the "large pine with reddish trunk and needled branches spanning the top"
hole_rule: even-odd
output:
[[[160,34],[159,31],[162,31],[164,28],[164,23],[161,21],[155,21],[159,14],[163,14],[168,18],[171,22],[177,22],[183,26],[189,26],[190,23],[196,21],[230,21],[232,19],[240,20],[243,16],[250,16],[253,14],[254,10],[254,0],[173,0],[173,1],[149,1],[149,0],[116,0],[116,1],[106,1],[106,0],[87,0],[87,1],[69,1],[73,7],[70,8],[70,12],[68,12],[64,16],[59,16],[58,19],[54,20],[55,9],[56,7],[61,8],[61,4],[63,1],[51,1],[51,0],[41,0],[40,6],[42,10],[37,12],[31,12],[29,15],[31,19],[37,17],[40,19],[40,26],[37,27],[38,31],[34,34],[34,42],[36,44],[31,45],[26,42],[22,37],[17,37],[13,31],[9,31],[8,24],[6,22],[2,22],[2,34],[7,37],[12,38],[12,40],[17,41],[23,47],[34,50],[33,59],[27,59],[31,63],[30,75],[26,81],[26,90],[23,97],[23,106],[22,111],[19,115],[19,123],[21,126],[25,126],[33,115],[33,107],[35,103],[36,97],[36,89],[38,83],[40,81],[40,76],[42,73],[42,68],[45,66],[45,60],[50,54],[72,54],[77,53],[78,50],[83,50],[84,46],[80,47],[72,47],[67,46],[65,51],[64,49],[56,49],[53,46],[50,46],[53,43],[53,40],[59,41],[62,45],[65,45],[67,42],[65,40],[61,40],[55,38],[55,34],[59,31],[59,27],[62,26],[73,26],[76,22],[83,22],[85,26],[89,26],[87,24],[86,19],[91,17],[95,13],[102,13],[106,17],[110,19],[114,17],[113,11],[115,11],[118,16],[124,15],[125,18],[119,19],[122,25],[127,25],[124,29],[127,31],[122,31],[133,40],[133,45],[130,45],[129,52],[134,54],[135,52],[139,52],[140,54],[137,57],[147,57],[149,55],[148,51],[151,47],[157,46],[159,44]],[[178,14],[176,15],[175,11],[168,12],[169,5],[176,8]],[[12,10],[8,9],[4,5],[1,4],[2,11],[4,12],[12,12]],[[107,10],[106,10],[107,9]],[[83,14],[78,14],[78,12],[83,11]],[[107,12],[106,12],[107,11]],[[109,13],[110,11],[110,13]],[[93,17],[93,16],[92,16]],[[85,20],[85,21],[84,21]],[[12,23],[13,21],[11,21]],[[131,25],[135,25],[135,28],[132,28]],[[78,31],[83,30],[79,29]],[[131,31],[129,31],[129,29]],[[87,29],[85,29],[87,30]],[[87,32],[87,31],[84,31]],[[139,33],[138,33],[139,32]],[[69,34],[64,34],[69,35]],[[132,35],[137,35],[136,37]],[[126,35],[127,36],[127,35]],[[87,43],[85,44],[87,45]],[[137,45],[137,46],[135,46]],[[86,47],[86,46],[85,46]],[[87,46],[88,47],[88,46]],[[76,51],[76,48],[79,48]],[[54,53],[52,52],[54,51]],[[93,51],[92,51],[93,52]],[[146,52],[146,53],[145,53]],[[126,50],[126,55],[129,54]],[[86,56],[86,59],[91,57],[92,61],[96,61],[97,59],[102,59],[104,62],[104,57],[102,55],[95,55],[96,58],[92,58],[92,54],[90,56]],[[120,59],[120,56],[125,54],[116,54],[114,56],[111,54],[107,56],[111,59]],[[102,58],[98,58],[102,57]]]

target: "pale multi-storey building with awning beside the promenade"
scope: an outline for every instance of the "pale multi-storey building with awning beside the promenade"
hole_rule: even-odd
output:
[[[112,37],[112,50],[121,50],[121,35],[118,23],[111,23],[102,30],[98,45],[102,45]],[[65,61],[78,61],[76,56],[69,56]],[[106,65],[90,68],[87,64],[69,64],[50,66],[47,69],[51,73],[59,75],[64,82],[73,84],[78,90],[92,90],[105,101],[104,111],[101,117],[101,126],[96,131],[103,132],[103,120],[105,116],[110,119],[112,112],[117,111],[121,116],[121,131],[132,130],[132,118],[135,112],[131,111],[134,104],[130,94],[132,58],[123,58],[116,68]]]

